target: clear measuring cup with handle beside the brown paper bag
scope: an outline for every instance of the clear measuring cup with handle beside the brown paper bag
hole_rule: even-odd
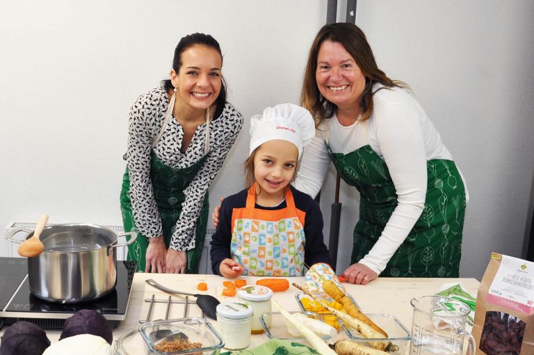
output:
[[[473,355],[475,340],[465,330],[470,308],[466,303],[441,296],[423,296],[410,301],[414,308],[410,355],[462,355],[464,338]]]

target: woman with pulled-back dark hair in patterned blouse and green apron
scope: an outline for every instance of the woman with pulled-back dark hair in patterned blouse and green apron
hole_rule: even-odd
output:
[[[209,210],[208,188],[243,125],[226,100],[223,55],[203,33],[181,38],[170,79],[130,109],[127,170],[120,203],[138,271],[197,273]]]

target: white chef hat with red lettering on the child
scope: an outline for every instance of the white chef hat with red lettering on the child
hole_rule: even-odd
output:
[[[250,152],[266,141],[281,139],[296,145],[298,156],[315,136],[315,123],[307,109],[295,104],[267,107],[261,115],[250,119]]]

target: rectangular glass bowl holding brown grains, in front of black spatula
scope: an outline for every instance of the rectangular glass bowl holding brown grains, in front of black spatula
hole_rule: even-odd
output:
[[[149,354],[219,354],[225,345],[223,338],[202,318],[182,318],[147,322],[138,327]],[[200,347],[184,350],[157,350],[162,342],[196,342]]]

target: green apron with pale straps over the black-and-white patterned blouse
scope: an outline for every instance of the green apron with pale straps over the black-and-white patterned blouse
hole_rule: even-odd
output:
[[[163,131],[167,126],[168,120],[172,115],[172,108],[174,107],[175,95],[172,95],[172,99],[169,103],[169,109],[163,120],[161,131],[158,136],[152,142],[152,148],[156,146],[163,135]],[[186,199],[184,190],[188,187],[189,183],[197,172],[200,171],[206,161],[209,153],[209,109],[206,110],[206,141],[204,147],[204,156],[200,158],[195,164],[188,166],[187,168],[172,168],[163,164],[161,160],[156,157],[154,151],[152,151],[152,159],[150,163],[150,180],[152,181],[152,190],[154,191],[154,198],[158,207],[159,216],[161,217],[161,225],[163,228],[163,237],[165,239],[165,246],[169,248],[170,239],[172,233],[176,229],[176,223],[179,219],[182,203]],[[135,230],[136,223],[133,219],[133,211],[131,208],[130,200],[130,179],[128,167],[124,173],[122,179],[122,190],[120,192],[120,209],[122,211],[122,223],[124,224],[124,230]],[[200,210],[200,216],[195,223],[195,248],[186,251],[187,267],[186,274],[198,274],[198,266],[200,264],[200,258],[202,256],[202,248],[204,248],[204,239],[206,237],[207,221],[209,214],[209,198],[208,192],[204,196],[204,203]],[[148,247],[148,239],[140,235],[141,238],[137,238],[136,242],[133,242],[128,246],[127,260],[135,260],[137,262],[138,272],[144,272],[146,266],[146,253]]]

